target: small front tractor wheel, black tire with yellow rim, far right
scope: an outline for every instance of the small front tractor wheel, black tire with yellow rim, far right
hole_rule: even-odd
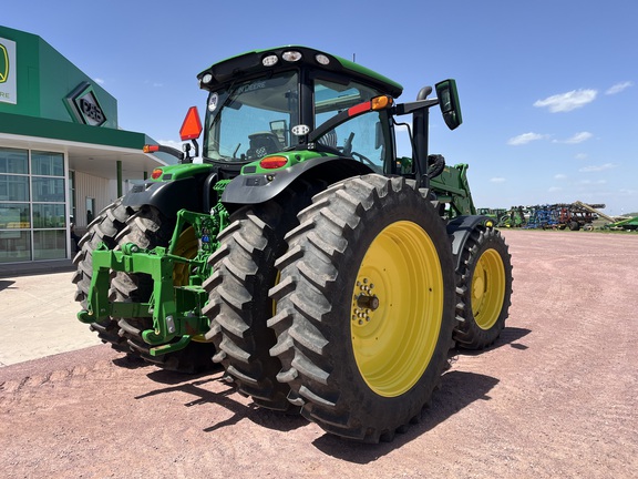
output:
[[[512,256],[501,232],[477,226],[461,252],[457,275],[456,344],[465,349],[492,345],[505,327],[512,296]]]

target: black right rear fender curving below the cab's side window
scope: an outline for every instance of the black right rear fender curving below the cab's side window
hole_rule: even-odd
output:
[[[357,160],[335,156],[313,157],[282,170],[237,176],[224,190],[222,203],[226,206],[264,203],[277,196],[301,176],[335,183],[369,173],[374,171]]]

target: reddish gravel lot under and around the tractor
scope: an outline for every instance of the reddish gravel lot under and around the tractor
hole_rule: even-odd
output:
[[[168,374],[93,346],[0,368],[0,475],[636,477],[638,235],[504,235],[505,332],[459,354],[422,422],[391,444],[258,409],[220,374]]]

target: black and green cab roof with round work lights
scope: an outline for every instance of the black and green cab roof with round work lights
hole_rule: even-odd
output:
[[[330,53],[299,45],[286,45],[241,53],[213,63],[210,68],[204,70],[197,78],[203,89],[216,90],[229,80],[249,79],[268,70],[282,71],[295,67],[344,74],[371,84],[394,98],[398,98],[403,91],[401,84],[366,67]]]

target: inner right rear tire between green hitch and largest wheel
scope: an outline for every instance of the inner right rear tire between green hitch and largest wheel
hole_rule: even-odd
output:
[[[288,247],[284,236],[299,224],[297,213],[316,191],[302,182],[269,202],[235,212],[209,258],[214,274],[204,283],[209,295],[204,313],[210,318],[206,337],[218,350],[213,359],[241,394],[269,409],[288,411],[292,405],[287,399],[290,388],[276,379],[281,363],[269,354],[276,336],[266,324],[275,307],[268,289],[277,281],[275,259]]]

